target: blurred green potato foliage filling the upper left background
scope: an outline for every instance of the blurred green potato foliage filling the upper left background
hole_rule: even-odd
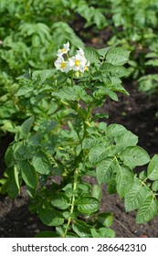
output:
[[[89,13],[89,16],[87,15]],[[87,26],[105,26],[100,10],[86,1],[68,0],[2,0],[0,7],[0,129],[13,133],[16,125],[29,116],[26,105],[15,96],[16,78],[28,69],[51,69],[54,53],[65,41],[71,50],[83,47],[71,23],[78,15],[87,19]],[[37,111],[46,108],[42,102]]]

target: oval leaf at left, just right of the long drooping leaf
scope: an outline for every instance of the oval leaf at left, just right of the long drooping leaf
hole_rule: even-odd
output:
[[[32,165],[35,167],[37,173],[41,175],[48,175],[52,171],[52,166],[44,152],[39,152],[32,158]]]

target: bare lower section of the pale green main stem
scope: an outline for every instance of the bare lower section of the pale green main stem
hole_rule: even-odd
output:
[[[70,208],[70,212],[69,212],[70,216],[68,218],[68,223],[67,223],[67,227],[65,229],[65,232],[62,235],[63,238],[65,238],[67,236],[69,225],[70,225],[71,220],[72,220],[72,213],[73,213],[74,207],[75,207],[75,191],[76,191],[77,184],[78,184],[78,176],[79,176],[79,171],[78,171],[78,169],[75,169],[75,172],[74,172],[74,183],[73,183],[73,195],[72,195],[72,198],[71,198],[71,208]]]

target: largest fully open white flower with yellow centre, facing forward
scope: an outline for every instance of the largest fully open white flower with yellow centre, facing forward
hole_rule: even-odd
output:
[[[87,59],[80,54],[77,54],[69,59],[69,66],[74,71],[84,72]]]

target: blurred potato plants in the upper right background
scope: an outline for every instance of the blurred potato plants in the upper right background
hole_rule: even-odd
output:
[[[111,28],[108,44],[120,43],[131,50],[128,61],[140,91],[157,93],[157,0],[89,1],[100,8]],[[149,69],[151,67],[152,69]],[[142,77],[143,76],[143,77]]]

